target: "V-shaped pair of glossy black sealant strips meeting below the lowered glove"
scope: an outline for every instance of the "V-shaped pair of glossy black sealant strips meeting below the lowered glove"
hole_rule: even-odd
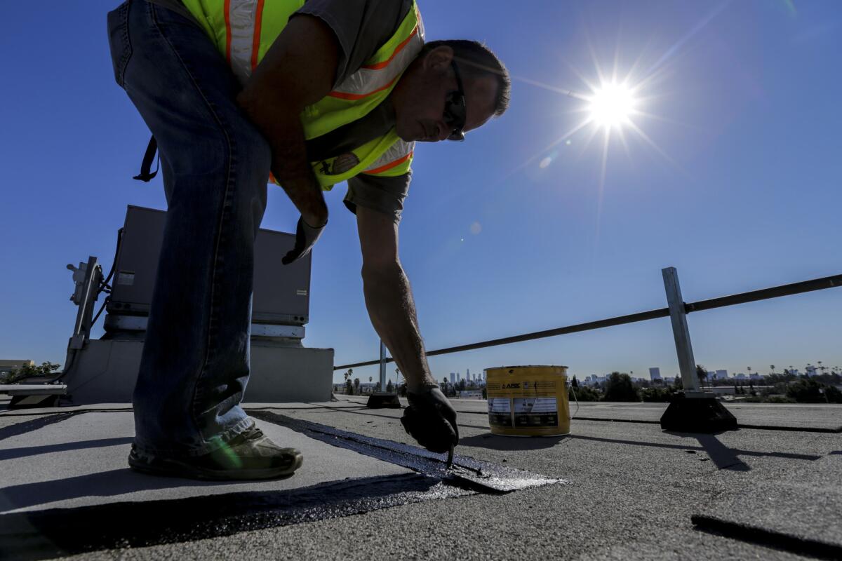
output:
[[[414,474],[344,479],[297,490],[206,495],[26,511],[0,516],[0,559],[56,558],[103,549],[188,542],[237,532],[351,516],[390,506],[566,484],[539,474],[340,431],[269,411],[263,421],[410,468]],[[62,419],[63,420],[63,419]],[[35,426],[32,428],[36,428]]]

